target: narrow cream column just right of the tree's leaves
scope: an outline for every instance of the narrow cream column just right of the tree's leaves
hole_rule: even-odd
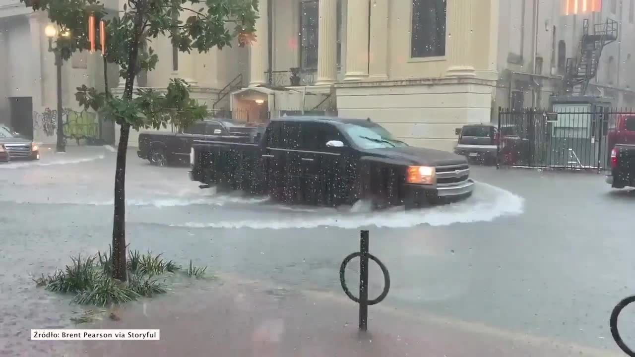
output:
[[[251,43],[249,52],[249,86],[267,84],[265,72],[269,70],[269,17],[267,7],[269,0],[258,1],[256,20],[256,41]]]

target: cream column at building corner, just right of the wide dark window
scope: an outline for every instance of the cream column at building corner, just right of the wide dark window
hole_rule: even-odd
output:
[[[448,76],[474,76],[471,64],[473,1],[448,1]]]

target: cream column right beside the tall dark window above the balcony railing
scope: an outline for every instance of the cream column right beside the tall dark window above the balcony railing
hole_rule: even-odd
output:
[[[337,0],[319,0],[317,86],[337,79]]]

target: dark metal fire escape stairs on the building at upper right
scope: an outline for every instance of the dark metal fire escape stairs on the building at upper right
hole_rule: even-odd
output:
[[[599,58],[604,46],[617,40],[617,21],[606,19],[593,26],[589,33],[589,19],[584,19],[580,51],[566,59],[565,90],[569,95],[585,95],[589,82],[598,74]]]

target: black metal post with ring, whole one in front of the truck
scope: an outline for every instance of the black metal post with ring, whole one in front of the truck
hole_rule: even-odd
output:
[[[391,288],[391,278],[388,269],[381,260],[377,259],[377,257],[371,253],[368,253],[368,243],[368,231],[361,231],[359,237],[359,252],[349,254],[344,258],[340,266],[340,284],[342,285],[342,289],[344,289],[344,293],[349,299],[359,304],[359,330],[361,331],[368,329],[368,306],[382,302],[386,295],[388,295],[388,290]],[[346,286],[344,278],[346,265],[355,257],[359,257],[359,299],[352,295],[351,290]],[[382,290],[382,293],[377,299],[373,300],[368,300],[368,259],[374,260],[384,274],[384,290]]]

